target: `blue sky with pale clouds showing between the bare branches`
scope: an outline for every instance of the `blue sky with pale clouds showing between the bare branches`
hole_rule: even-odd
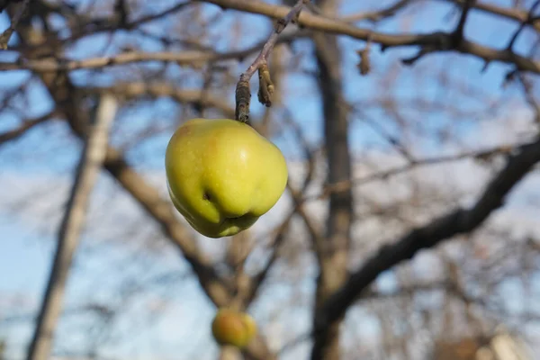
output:
[[[157,2],[156,6],[166,8],[170,4],[172,2],[162,1]],[[381,7],[387,4],[391,2],[378,2]],[[509,5],[509,2],[497,1],[494,4]],[[213,5],[206,5],[204,9],[208,17],[219,12],[219,9]],[[344,1],[341,13],[353,14],[373,9],[371,2]],[[448,16],[449,14],[453,14],[449,5],[434,1],[421,10],[418,6],[412,6],[410,11],[397,16],[397,21],[378,23],[374,29],[384,32],[403,31],[403,29],[412,32],[450,31],[455,27],[458,13],[455,12],[453,16]],[[228,12],[220,23],[212,28],[213,35],[218,39],[222,38],[217,42],[218,49],[223,51],[231,49],[231,44],[220,32],[229,31],[230,24],[238,16],[245,19],[244,30],[248,30],[249,33],[242,38],[242,41],[234,44],[234,47],[244,49],[266,38],[270,30],[270,23],[266,19],[257,15],[239,15],[237,12]],[[0,31],[7,26],[5,14],[1,14]],[[58,26],[62,24],[58,23]],[[166,26],[172,26],[172,24],[166,23]],[[150,31],[164,31],[163,23],[159,26],[149,24],[147,28]],[[470,40],[502,49],[516,28],[515,23],[474,12],[467,22],[465,33]],[[121,42],[121,40],[132,38],[130,34],[121,33],[116,41]],[[523,31],[515,49],[518,52],[526,51],[532,39],[532,31]],[[73,58],[99,56],[103,54],[105,44],[105,36],[94,36],[89,40],[81,41],[71,55]],[[387,74],[395,72],[396,68],[400,70],[404,67],[399,65],[399,58],[414,55],[417,50],[387,49],[381,53],[378,46],[374,46],[373,72],[370,76],[360,76],[355,70],[358,62],[356,49],[361,49],[364,44],[362,41],[342,37],[340,45],[344,49],[343,71],[347,74],[345,81],[347,100],[349,103],[358,103],[361,107],[365,99],[372,99],[375,97],[374,94],[381,91],[384,86],[382,79]],[[146,41],[143,46],[148,51],[160,50],[157,43],[151,40]],[[110,46],[105,54],[113,51],[115,47]],[[292,51],[310,52],[311,44],[308,40],[298,40],[294,43]],[[0,60],[9,58],[14,58],[13,52],[0,53]],[[245,61],[231,66],[238,68],[239,74],[247,67],[247,64],[248,62]],[[312,58],[302,60],[304,70],[313,70],[315,65]],[[148,67],[151,66],[152,64],[148,65]],[[484,72],[481,71],[482,67],[481,60],[470,56],[454,53],[431,55],[419,60],[410,67],[410,70],[401,69],[398,72],[396,85],[383,88],[383,91],[384,94],[392,94],[396,101],[403,104],[404,111],[413,116],[416,111],[408,110],[407,103],[418,98],[442,103],[458,103],[460,109],[475,114],[473,118],[455,121],[446,112],[434,111],[428,114],[424,112],[421,114],[422,118],[418,120],[419,129],[429,133],[436,133],[437,130],[446,128],[454,121],[451,129],[456,135],[453,139],[461,141],[459,148],[482,148],[524,139],[527,134],[530,134],[532,112],[527,109],[521,98],[520,89],[516,85],[501,86],[502,79],[511,67],[494,63]],[[112,71],[115,70],[117,69]],[[121,70],[116,73],[119,71]],[[170,73],[175,80],[186,76],[183,82],[186,87],[202,85],[201,76],[193,76],[187,69],[171,67]],[[457,92],[451,90],[450,86],[441,85],[440,79],[436,77],[441,73],[451,79],[463,80],[466,91]],[[25,71],[0,72],[0,87],[13,88],[29,76],[29,73]],[[79,85],[107,85],[111,79],[111,73],[95,74],[80,70],[73,73],[73,79]],[[310,76],[294,73],[285,79],[282,87],[285,92],[284,103],[293,112],[294,120],[301,124],[307,139],[312,144],[317,144],[321,140],[321,108],[320,97],[316,94],[316,83]],[[540,86],[536,87],[536,94],[539,88]],[[24,109],[26,116],[39,116],[51,110],[49,97],[37,81],[34,80],[29,87],[29,93],[29,103],[23,103],[23,101],[18,103]],[[478,96],[467,95],[478,93],[480,93]],[[231,106],[234,103],[233,96],[234,93],[230,92]],[[487,106],[487,102],[492,103],[492,106]],[[252,111],[257,117],[263,110],[260,104],[253,102]],[[115,124],[117,135],[112,136],[112,144],[120,145],[122,139],[148,126],[148,121],[156,121],[158,125],[164,126],[170,124],[171,121],[175,121],[177,113],[178,106],[167,99],[152,102],[151,106],[148,106],[147,102],[131,106],[130,109],[119,114],[119,120]],[[373,156],[379,159],[381,166],[400,163],[400,158],[392,153],[385,139],[382,139],[373,127],[365,122],[367,117],[379,121],[385,130],[406,142],[417,157],[434,157],[458,148],[457,142],[441,144],[435,136],[423,139],[411,136],[408,139],[407,134],[403,134],[395,122],[383,121],[386,116],[376,106],[364,107],[363,112],[358,112],[353,116],[349,141],[356,157],[365,157],[366,154]],[[14,113],[0,113],[0,132],[14,128],[17,123],[18,117]],[[129,148],[126,153],[130,163],[134,164],[148,181],[156,184],[164,195],[166,187],[163,161],[169,138],[170,132],[164,132]],[[49,139],[54,139],[54,141],[49,141]],[[293,137],[290,133],[286,133],[284,136],[275,136],[273,140],[289,158],[292,176],[296,176],[295,171],[301,172],[297,166],[301,152],[295,146]],[[36,127],[22,138],[4,144],[0,148],[0,274],[2,274],[0,277],[0,320],[4,319],[0,321],[0,338],[9,337],[9,347],[14,355],[21,354],[20,351],[31,334],[28,322],[17,319],[27,317],[32,311],[38,309],[49,275],[58,220],[62,206],[67,200],[79,150],[78,140],[71,137],[65,124],[56,121]],[[357,171],[363,170],[359,168]],[[436,184],[445,184],[444,182],[451,178],[455,188],[464,194],[477,193],[479,185],[483,184],[480,179],[485,181],[489,178],[489,174],[482,171],[479,166],[466,162],[441,167],[440,172],[419,173],[418,176],[421,181],[433,181]],[[498,225],[515,231],[539,233],[540,229],[535,216],[537,208],[529,203],[531,199],[540,197],[538,184],[540,184],[538,176],[527,178],[527,182],[521,184],[518,190],[512,193],[509,208],[498,213],[499,218],[496,217],[496,220],[492,222],[495,221]],[[396,193],[398,192],[396,190]],[[392,193],[384,195],[391,201],[395,199]],[[464,202],[471,199],[473,197],[464,196]],[[257,223],[256,230],[264,232],[265,229],[271,227],[271,224],[277,223],[287,203],[287,199],[282,199],[282,202],[266,216],[265,220]],[[104,211],[105,209],[107,212]],[[322,209],[321,203],[312,205],[312,211],[322,211]],[[118,185],[114,184],[107,175],[101,175],[92,199],[87,229],[76,255],[74,271],[70,276],[66,308],[79,309],[81,304],[88,299],[96,303],[119,302],[114,289],[127,286],[126,293],[135,292],[122,283],[126,278],[136,275],[140,283],[144,283],[144,279],[151,282],[151,290],[144,293],[142,298],[135,297],[127,304],[122,302],[122,305],[129,307],[130,310],[125,311],[128,315],[124,315],[119,322],[120,325],[115,327],[117,333],[113,334],[111,343],[105,344],[103,348],[106,350],[103,353],[121,355],[124,356],[123,358],[134,360],[146,359],[150,354],[161,356],[160,359],[189,359],[193,358],[193,354],[200,356],[198,357],[200,359],[214,358],[217,347],[209,341],[210,327],[206,325],[210,323],[213,316],[214,309],[211,303],[199,291],[193,277],[188,276],[189,269],[184,261],[179,261],[175,248],[159,235],[157,226],[148,220],[144,222],[144,228],[141,229],[138,226],[142,219],[144,219],[144,213],[130,197],[122,193]],[[396,232],[402,233],[401,229],[397,229]],[[126,238],[130,240],[126,241]],[[216,257],[223,251],[223,246],[216,245],[215,240],[202,239],[202,242],[215,253]],[[153,246],[149,250],[146,249],[148,243]],[[141,248],[145,250],[141,251]],[[303,275],[310,280],[304,280],[297,286],[296,291],[299,293],[310,293],[314,288],[311,281],[312,275],[315,274],[312,259],[308,258],[305,261],[308,266],[305,267],[306,273]],[[420,269],[422,261],[427,261],[429,264],[429,260],[422,260],[422,257],[418,261]],[[144,272],[141,272],[143,270]],[[153,281],[162,277],[165,280]],[[537,293],[536,299],[538,299],[540,279],[535,277],[531,281],[536,284],[534,288]],[[383,275],[380,284],[392,290],[392,274]],[[513,285],[510,283],[505,286],[511,288]],[[272,311],[275,311],[275,303],[292,296],[293,290],[291,287],[273,284],[269,291],[272,292],[270,300],[257,302],[251,311],[256,315],[257,321],[262,324],[266,322],[273,324],[266,327],[266,336],[270,338],[271,345],[274,342],[274,346],[278,347],[283,345],[286,339],[280,337],[284,329],[280,328],[275,321],[272,322]],[[181,301],[178,302],[178,299]],[[305,300],[305,302],[309,304],[311,300]],[[512,303],[511,299],[509,303]],[[514,302],[510,306],[518,310],[520,307],[519,302],[517,304]],[[302,333],[308,329],[309,309],[299,305],[291,307],[288,311],[295,319],[293,329],[288,329],[289,331]],[[134,314],[144,315],[141,319],[133,320]],[[88,311],[76,311],[74,315],[67,315],[67,318],[68,321],[63,322],[59,329],[60,336],[65,340],[61,348],[68,349],[83,343],[84,339],[77,338],[78,335],[67,335],[80,334],[80,331],[77,333],[73,329],[88,327],[88,331],[97,331],[92,329],[94,316],[89,316]],[[368,339],[370,334],[376,332],[376,326],[374,321],[370,320],[369,314],[363,314],[360,318],[361,321],[357,325],[358,331],[364,334],[363,338]],[[186,324],[193,324],[193,327],[177,326],[175,322],[179,319]],[[152,324],[149,327],[148,321]],[[190,334],[186,331],[193,331],[193,334],[189,336]],[[534,331],[540,339],[540,330],[533,329]],[[129,334],[130,341],[125,341],[126,333]],[[202,354],[197,352],[201,347],[206,347],[206,351]],[[178,354],[178,349],[183,349],[182,354]],[[304,358],[308,350],[309,343],[306,342],[291,351],[289,356],[290,358],[298,356]]]

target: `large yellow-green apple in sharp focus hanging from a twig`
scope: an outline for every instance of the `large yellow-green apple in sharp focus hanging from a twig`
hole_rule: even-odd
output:
[[[208,238],[252,226],[279,200],[288,179],[280,149],[230,119],[184,122],[169,140],[165,162],[175,208]]]

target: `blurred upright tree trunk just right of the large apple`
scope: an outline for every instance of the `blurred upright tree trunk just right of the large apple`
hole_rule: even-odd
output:
[[[338,0],[320,0],[325,14],[335,14]],[[315,55],[319,66],[319,85],[324,112],[324,136],[328,163],[329,184],[349,180],[351,158],[348,148],[347,108],[344,106],[341,56],[334,35],[316,33]],[[329,199],[329,218],[326,238],[320,244],[320,275],[317,283],[316,309],[347,280],[347,251],[353,211],[350,188],[332,193]],[[337,360],[339,354],[339,325],[334,321],[324,336],[315,337],[311,358]]]

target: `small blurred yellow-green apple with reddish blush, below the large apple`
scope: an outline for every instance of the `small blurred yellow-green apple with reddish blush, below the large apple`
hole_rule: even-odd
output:
[[[246,347],[257,334],[255,320],[245,312],[220,309],[211,323],[211,333],[221,346]]]

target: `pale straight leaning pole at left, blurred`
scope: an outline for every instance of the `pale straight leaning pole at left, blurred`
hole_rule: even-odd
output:
[[[58,247],[28,351],[28,360],[46,360],[50,357],[54,332],[62,310],[69,267],[85,223],[88,199],[103,164],[109,129],[115,113],[116,101],[110,95],[104,96],[94,126],[85,141],[66,213],[58,231]]]

